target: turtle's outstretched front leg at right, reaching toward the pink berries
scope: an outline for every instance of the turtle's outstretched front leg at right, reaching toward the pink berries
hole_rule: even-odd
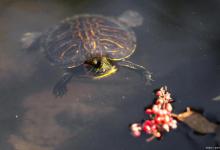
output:
[[[146,85],[150,85],[151,81],[153,81],[152,73],[143,66],[140,66],[138,64],[135,64],[135,63],[133,63],[131,61],[127,61],[127,60],[120,61],[118,63],[118,65],[140,71],[144,76],[144,80],[145,80]]]

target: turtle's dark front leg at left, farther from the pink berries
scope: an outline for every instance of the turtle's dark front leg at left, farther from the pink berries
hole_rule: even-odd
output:
[[[63,96],[67,92],[67,83],[70,82],[70,80],[73,77],[73,71],[66,71],[62,78],[56,83],[56,85],[53,88],[53,94],[55,96]]]

